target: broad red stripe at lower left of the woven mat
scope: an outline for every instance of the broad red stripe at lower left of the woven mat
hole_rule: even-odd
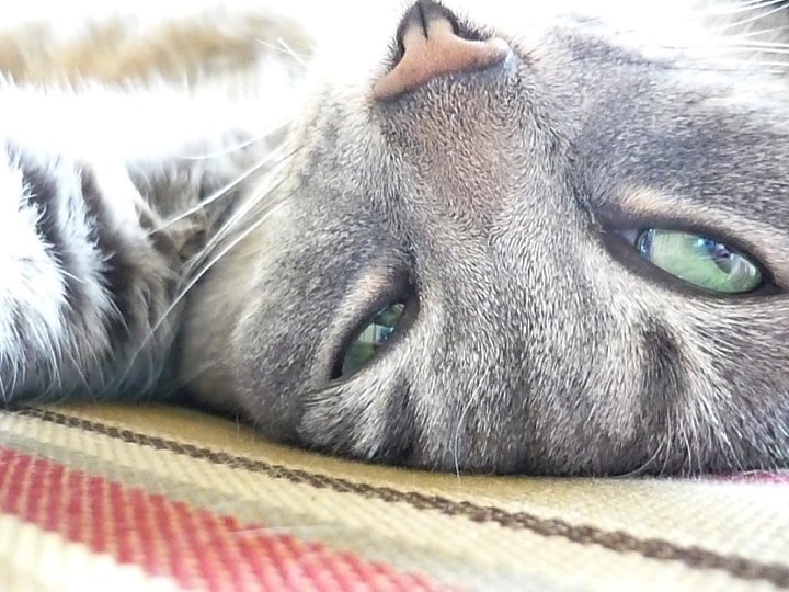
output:
[[[262,525],[2,447],[0,511],[192,590],[446,589],[382,562],[266,534]]]

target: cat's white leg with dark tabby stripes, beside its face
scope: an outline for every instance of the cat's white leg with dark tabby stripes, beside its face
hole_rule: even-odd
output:
[[[7,144],[0,197],[0,400],[148,390],[174,254],[126,169]]]

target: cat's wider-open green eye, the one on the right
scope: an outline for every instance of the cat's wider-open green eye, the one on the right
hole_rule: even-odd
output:
[[[650,229],[636,248],[655,266],[720,294],[745,294],[762,284],[762,272],[746,257],[716,240],[679,230]]]

